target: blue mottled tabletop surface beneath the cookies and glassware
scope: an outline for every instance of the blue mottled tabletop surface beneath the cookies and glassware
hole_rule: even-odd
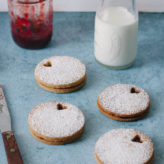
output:
[[[99,65],[93,55],[94,13],[56,13],[54,35],[42,50],[25,50],[14,44],[7,13],[0,13],[0,83],[12,117],[12,128],[25,164],[96,164],[94,145],[104,132],[120,127],[137,128],[155,145],[155,162],[164,163],[164,14],[140,14],[138,54],[126,70]],[[55,94],[38,87],[33,72],[43,58],[74,56],[87,66],[87,84],[79,91]],[[96,105],[99,92],[115,83],[132,83],[151,97],[149,114],[136,122],[118,122],[101,114]],[[72,144],[49,146],[29,133],[27,115],[36,105],[62,100],[77,105],[86,116],[82,137]],[[6,164],[0,138],[0,164]]]

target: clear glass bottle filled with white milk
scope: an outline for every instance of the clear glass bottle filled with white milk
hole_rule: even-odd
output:
[[[101,0],[95,17],[96,60],[114,69],[132,65],[136,58],[137,32],[135,0]]]

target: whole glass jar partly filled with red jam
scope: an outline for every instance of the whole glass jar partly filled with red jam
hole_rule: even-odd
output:
[[[14,41],[23,48],[44,48],[52,37],[53,0],[8,0]]]

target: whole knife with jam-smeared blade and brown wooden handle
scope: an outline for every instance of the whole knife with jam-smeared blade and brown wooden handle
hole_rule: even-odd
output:
[[[11,130],[11,119],[7,108],[6,100],[0,85],[0,130],[4,142],[8,164],[23,164],[23,160]]]

